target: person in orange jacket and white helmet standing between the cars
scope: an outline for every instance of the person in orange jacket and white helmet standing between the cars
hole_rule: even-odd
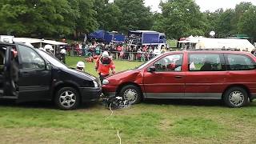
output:
[[[102,55],[97,58],[95,63],[95,70],[98,71],[101,82],[106,76],[110,74],[110,69],[112,70],[112,74],[114,74],[115,73],[114,62],[110,58],[109,53],[107,51],[104,51]]]

